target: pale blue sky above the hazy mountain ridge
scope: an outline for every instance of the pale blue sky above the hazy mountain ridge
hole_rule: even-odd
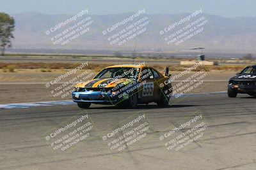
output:
[[[0,0],[0,12],[9,14],[37,11],[44,14],[76,14],[88,9],[92,15],[133,12],[148,14],[204,13],[221,17],[256,17],[255,0]]]

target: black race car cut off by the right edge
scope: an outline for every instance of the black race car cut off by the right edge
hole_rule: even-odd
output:
[[[256,97],[256,65],[248,66],[228,81],[228,97],[238,93]]]

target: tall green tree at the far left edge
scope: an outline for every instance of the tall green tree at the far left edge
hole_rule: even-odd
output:
[[[14,31],[14,19],[7,13],[0,13],[0,48],[1,55],[4,55],[5,46],[10,48],[12,43],[10,41],[13,37],[12,32]]]

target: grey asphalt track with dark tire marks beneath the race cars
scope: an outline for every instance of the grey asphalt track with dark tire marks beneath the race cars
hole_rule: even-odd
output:
[[[0,109],[0,169],[255,169],[255,98]]]

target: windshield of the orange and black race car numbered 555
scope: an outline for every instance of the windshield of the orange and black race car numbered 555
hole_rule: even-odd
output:
[[[140,72],[134,67],[113,67],[100,71],[95,78],[136,78]]]

